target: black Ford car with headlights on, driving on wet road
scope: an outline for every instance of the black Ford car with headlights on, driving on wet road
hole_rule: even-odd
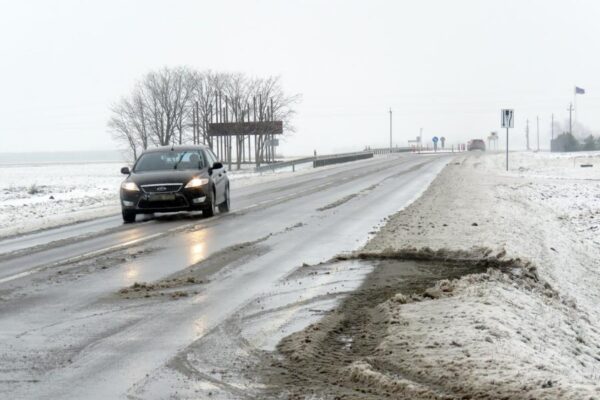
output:
[[[121,183],[123,221],[134,222],[136,214],[202,211],[207,217],[228,212],[227,171],[205,146],[158,147],[146,150]]]

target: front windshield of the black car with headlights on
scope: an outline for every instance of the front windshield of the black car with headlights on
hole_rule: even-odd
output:
[[[135,172],[190,170],[206,167],[206,161],[199,151],[160,151],[143,154],[135,164]]]

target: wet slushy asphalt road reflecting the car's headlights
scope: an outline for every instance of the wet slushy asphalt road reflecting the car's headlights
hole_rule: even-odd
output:
[[[176,384],[156,389],[154,377],[175,356],[282,293],[303,265],[360,247],[450,157],[377,157],[233,188],[233,211],[210,219],[110,217],[0,241],[0,397],[168,397]],[[120,292],[136,282],[160,287]],[[294,318],[261,329],[301,328]]]

